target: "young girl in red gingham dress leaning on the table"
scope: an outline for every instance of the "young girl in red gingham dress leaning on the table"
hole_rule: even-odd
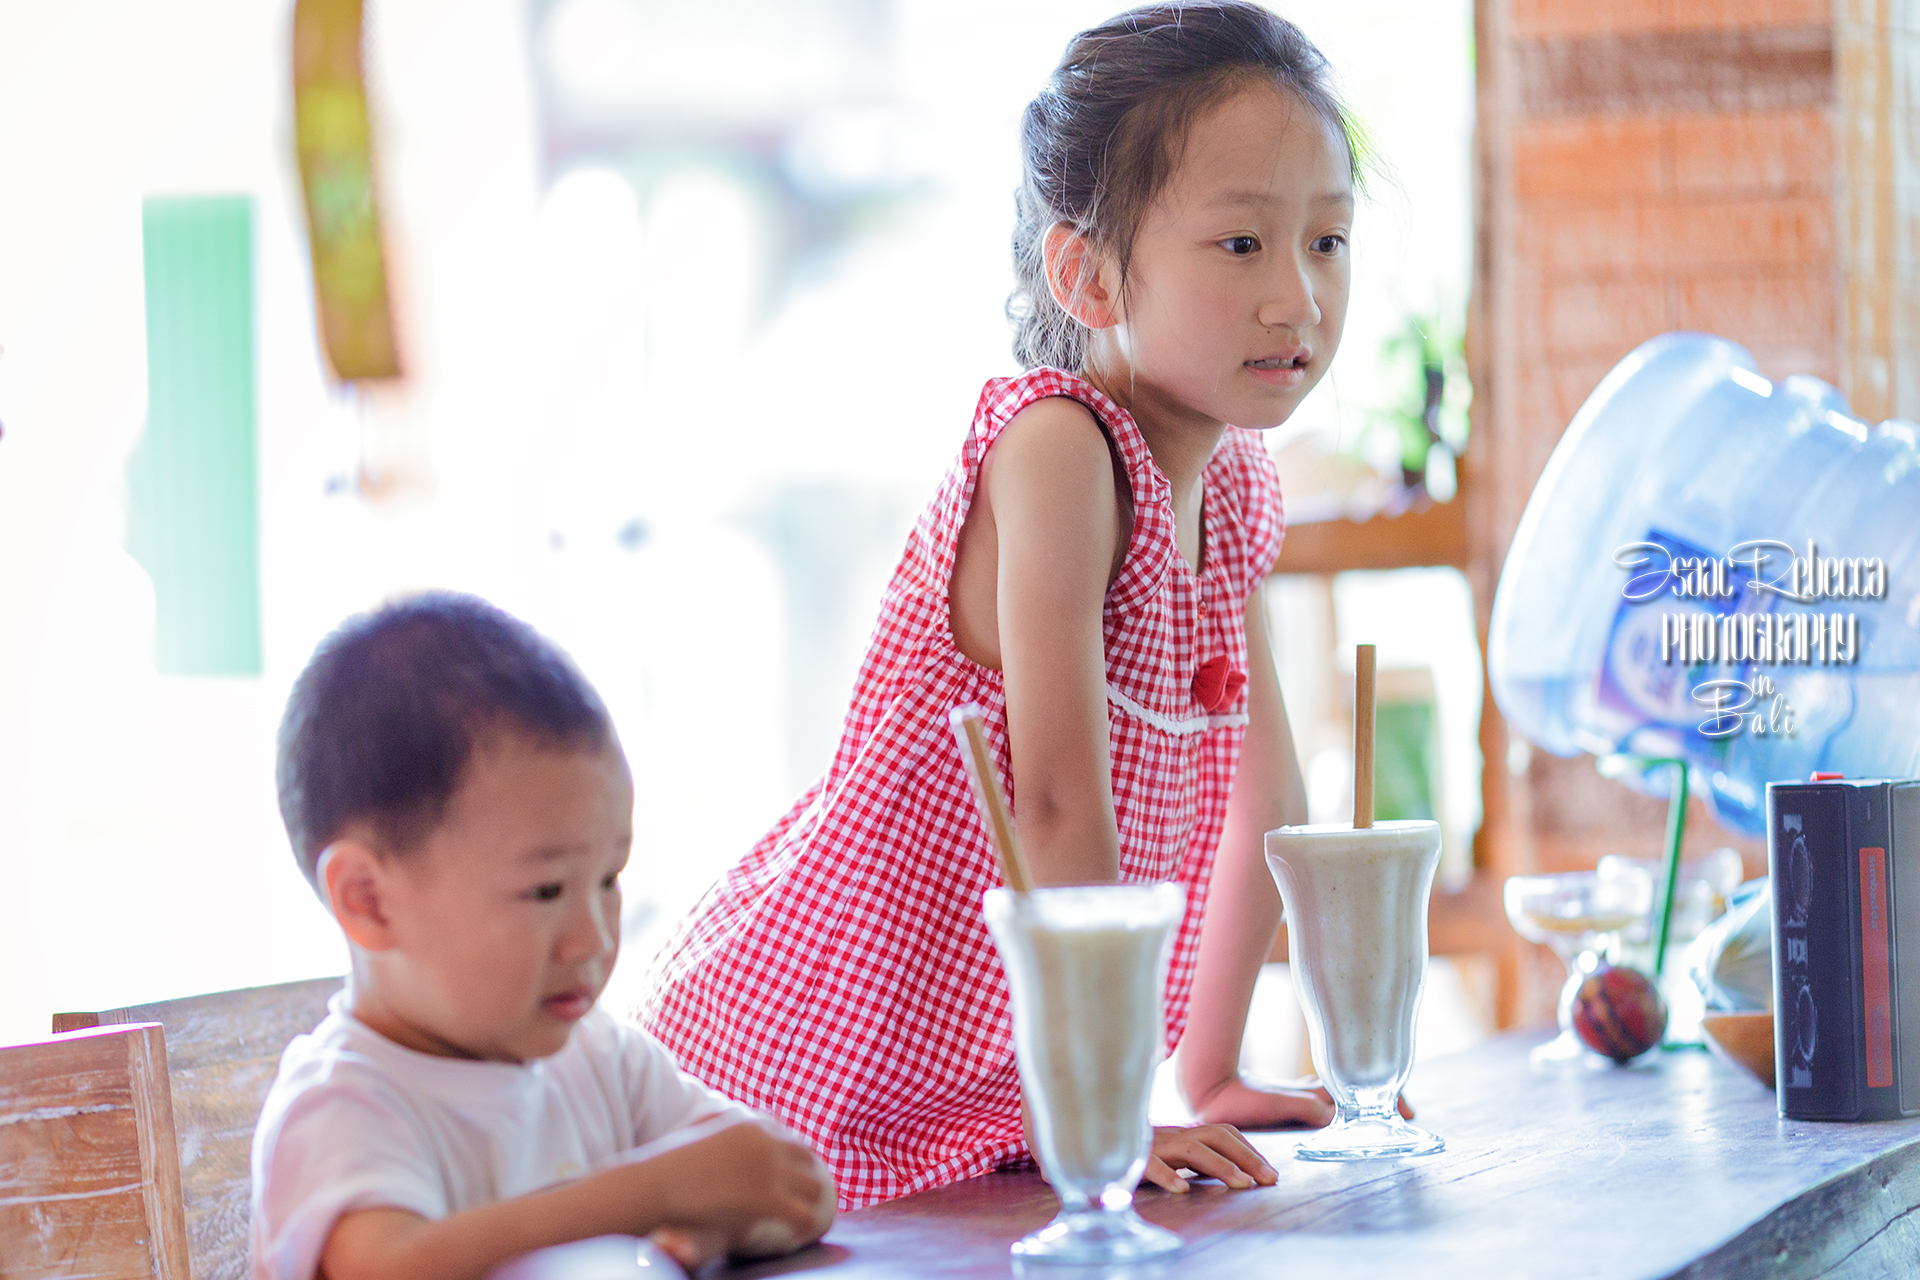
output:
[[[1340,342],[1342,119],[1321,54],[1252,4],[1123,13],[1027,107],[1027,372],[987,384],[908,539],[826,777],[684,921],[641,1007],[684,1069],[812,1142],[843,1207],[1025,1155],[960,702],[987,708],[1035,881],[1187,887],[1167,1044],[1210,1123],[1158,1130],[1148,1180],[1273,1182],[1231,1125],[1331,1113],[1244,1082],[1238,1050],[1281,919],[1261,835],[1306,821],[1256,432]]]

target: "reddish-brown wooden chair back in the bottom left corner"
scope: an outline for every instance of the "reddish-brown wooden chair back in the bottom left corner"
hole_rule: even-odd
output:
[[[159,1027],[0,1048],[0,1276],[188,1280]]]

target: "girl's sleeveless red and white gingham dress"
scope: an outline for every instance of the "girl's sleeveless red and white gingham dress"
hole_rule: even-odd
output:
[[[833,764],[682,921],[639,1009],[685,1071],[806,1138],[843,1209],[1025,1157],[1006,977],[981,917],[1000,877],[947,723],[960,702],[985,708],[1018,808],[1006,695],[998,672],[954,647],[947,587],[987,449],[1048,395],[1098,415],[1133,484],[1133,543],[1104,608],[1119,875],[1187,887],[1169,1050],[1187,1025],[1246,735],[1244,689],[1210,714],[1192,681],[1215,656],[1246,670],[1242,606],[1281,549],[1279,478],[1258,434],[1227,430],[1204,474],[1194,576],[1133,418],[1056,368],[996,378],[887,587]]]

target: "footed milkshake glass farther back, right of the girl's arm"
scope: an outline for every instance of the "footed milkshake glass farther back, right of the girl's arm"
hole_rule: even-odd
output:
[[[1286,904],[1288,967],[1308,1015],[1332,1125],[1300,1159],[1428,1155],[1444,1144],[1400,1119],[1413,1015],[1427,977],[1427,898],[1440,823],[1281,827],[1267,867]]]

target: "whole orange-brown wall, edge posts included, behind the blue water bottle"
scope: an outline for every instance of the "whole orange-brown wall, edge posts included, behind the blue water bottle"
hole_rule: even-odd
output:
[[[1473,580],[1640,342],[1699,328],[1768,376],[1920,418],[1920,0],[1480,0]],[[1665,804],[1482,731],[1496,873],[1661,844]],[[1519,758],[1515,758],[1519,764]],[[1695,806],[1690,848],[1743,846]],[[1503,990],[1526,1017],[1551,975]],[[1544,984],[1546,983],[1546,984]],[[1526,990],[1532,988],[1532,990]]]

